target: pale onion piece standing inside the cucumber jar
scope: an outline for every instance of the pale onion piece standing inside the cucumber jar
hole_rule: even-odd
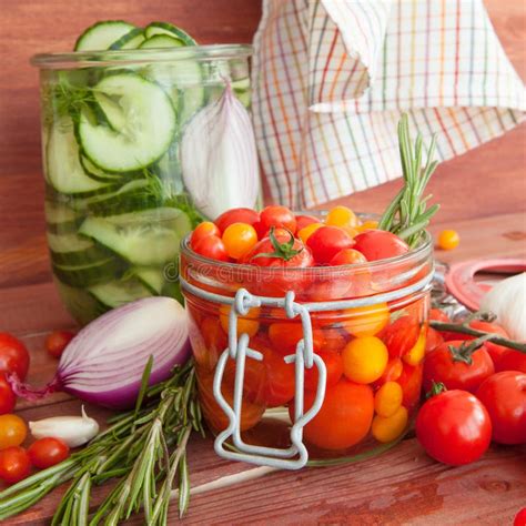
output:
[[[260,191],[254,130],[230,84],[189,122],[181,168],[186,190],[208,218],[232,208],[254,208]]]

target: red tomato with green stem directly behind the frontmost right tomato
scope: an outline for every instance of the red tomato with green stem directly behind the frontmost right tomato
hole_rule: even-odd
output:
[[[462,341],[445,342],[426,355],[424,391],[429,391],[433,382],[442,382],[448,390],[475,393],[478,386],[495,373],[492,358],[484,345],[471,355],[472,363],[468,364],[449,350],[449,346],[453,346],[455,353],[458,353],[462,344]]]

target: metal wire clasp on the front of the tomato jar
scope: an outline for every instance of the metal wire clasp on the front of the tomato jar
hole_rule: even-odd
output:
[[[241,409],[243,402],[243,381],[246,356],[262,361],[263,355],[249,347],[249,335],[243,333],[237,338],[237,316],[246,316],[250,308],[259,306],[283,307],[287,317],[301,317],[303,338],[296,345],[295,354],[284,357],[286,363],[295,363],[295,395],[294,422],[291,427],[291,446],[286,449],[263,447],[246,444],[241,438]],[[231,407],[223,394],[221,384],[229,357],[235,360],[235,378],[233,406]],[[317,367],[318,382],[314,403],[304,412],[303,381],[305,367]],[[218,404],[229,418],[229,427],[221,432],[214,442],[218,455],[233,461],[243,461],[262,466],[282,469],[300,469],[307,459],[308,453],[303,444],[303,427],[317,414],[325,397],[326,368],[323,360],[314,354],[312,346],[312,324],[308,310],[294,302],[294,293],[289,291],[284,299],[265,299],[252,295],[245,289],[240,289],[234,297],[229,317],[229,347],[221,354],[214,375],[213,392]],[[225,442],[232,437],[236,452],[225,447]]]

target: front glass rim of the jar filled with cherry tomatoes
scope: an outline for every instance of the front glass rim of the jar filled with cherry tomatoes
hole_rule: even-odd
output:
[[[198,254],[190,247],[190,236],[192,234],[188,234],[182,241],[181,241],[181,251],[184,253],[185,256],[191,257],[195,261],[198,261],[201,264],[204,265],[210,265],[210,266],[216,266],[221,269],[232,269],[236,270],[237,272],[246,272],[250,274],[251,272],[254,273],[282,273],[283,267],[282,266],[257,266],[257,265],[249,265],[249,264],[240,264],[240,263],[229,263],[224,261],[218,261],[218,260],[212,260],[210,257],[205,257],[203,255]],[[390,266],[396,266],[399,265],[401,263],[411,263],[412,261],[419,261],[422,257],[426,257],[431,255],[432,249],[433,249],[433,237],[429,234],[428,231],[424,232],[423,240],[419,242],[418,246],[414,250],[411,250],[409,252],[406,252],[405,254],[397,255],[394,257],[386,257],[384,260],[377,260],[377,261],[368,261],[366,263],[352,263],[348,265],[337,265],[337,266],[316,266],[314,267],[316,272],[318,273],[320,277],[323,277],[324,273],[327,274],[327,276],[335,272],[343,272],[343,271],[356,271],[356,272],[363,272],[363,271],[371,271],[371,270],[388,270]],[[301,273],[311,270],[313,267],[286,267],[287,274],[294,274],[295,272]]]

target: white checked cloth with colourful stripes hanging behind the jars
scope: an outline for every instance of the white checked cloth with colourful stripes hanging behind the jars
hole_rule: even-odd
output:
[[[438,133],[439,160],[524,119],[482,0],[263,0],[254,45],[263,172],[295,209],[401,176],[403,111],[425,140]]]

